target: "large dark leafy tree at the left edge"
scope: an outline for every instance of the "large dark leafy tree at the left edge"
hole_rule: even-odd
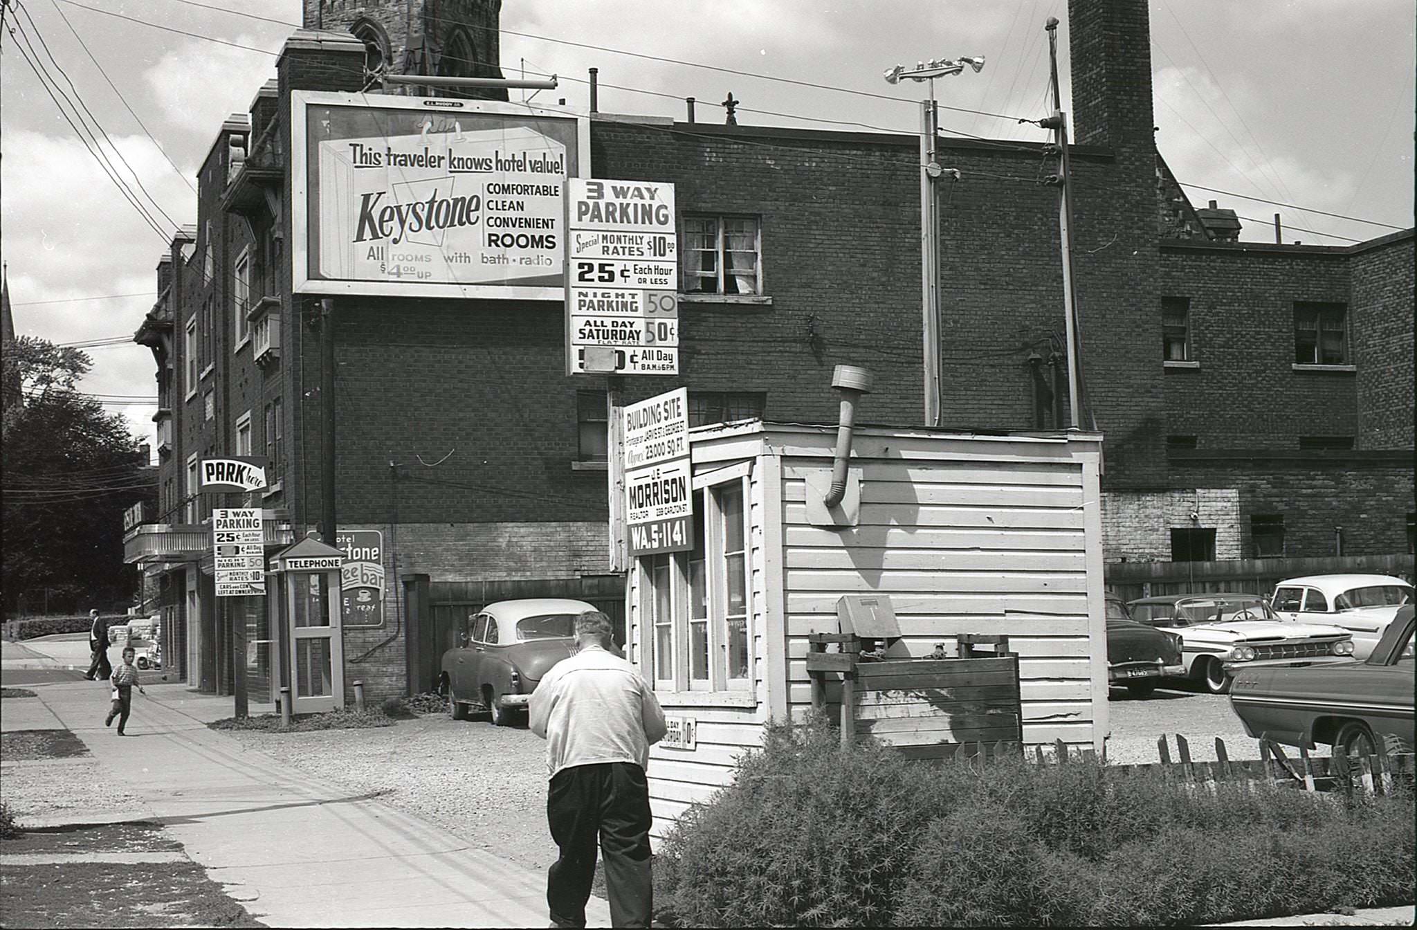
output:
[[[88,354],[21,336],[4,346],[18,386],[3,420],[3,598],[34,610],[112,608],[137,586],[123,564],[123,510],[154,500],[157,476],[122,417],[77,390]]]

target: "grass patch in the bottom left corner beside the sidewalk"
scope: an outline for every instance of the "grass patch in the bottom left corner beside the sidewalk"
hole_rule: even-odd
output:
[[[13,927],[264,927],[193,862],[0,865]]]

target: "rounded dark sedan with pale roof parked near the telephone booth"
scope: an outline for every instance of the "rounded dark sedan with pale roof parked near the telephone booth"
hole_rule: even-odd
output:
[[[458,645],[444,652],[439,690],[453,720],[480,703],[495,726],[526,710],[547,671],[575,652],[575,617],[585,601],[526,598],[487,604],[463,620]]]

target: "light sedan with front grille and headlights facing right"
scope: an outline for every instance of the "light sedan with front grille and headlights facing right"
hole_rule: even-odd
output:
[[[1230,690],[1241,668],[1352,662],[1342,627],[1285,624],[1258,594],[1166,594],[1128,601],[1132,620],[1180,635],[1186,678],[1212,695]]]

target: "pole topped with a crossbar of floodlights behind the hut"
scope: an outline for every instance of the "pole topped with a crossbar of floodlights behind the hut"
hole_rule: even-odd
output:
[[[969,65],[978,74],[983,68],[983,57],[951,61],[915,62],[913,71],[904,65],[886,69],[886,84],[901,78],[930,81],[930,99],[920,103],[920,296],[922,318],[922,347],[925,369],[925,425],[941,424],[939,391],[939,217],[935,200],[935,180],[951,174],[959,180],[955,169],[942,169],[935,160],[935,140],[939,138],[939,113],[935,106],[935,78],[955,75]]]

